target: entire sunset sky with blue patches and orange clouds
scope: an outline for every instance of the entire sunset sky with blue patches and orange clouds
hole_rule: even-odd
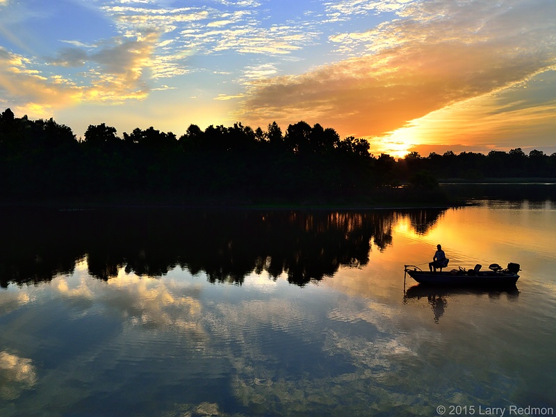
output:
[[[0,111],[556,152],[555,0],[0,0]]]

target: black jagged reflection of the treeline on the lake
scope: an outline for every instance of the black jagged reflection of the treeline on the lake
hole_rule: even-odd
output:
[[[212,283],[242,284],[252,272],[292,284],[361,267],[371,246],[392,245],[392,227],[409,216],[416,233],[442,211],[245,211],[111,209],[3,210],[0,284],[49,281],[87,259],[97,279],[124,268],[161,277],[179,267]]]

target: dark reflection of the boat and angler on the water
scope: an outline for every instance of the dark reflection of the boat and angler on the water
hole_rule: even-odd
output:
[[[506,295],[507,300],[517,301],[519,291],[517,286],[507,288],[493,289],[493,288],[473,288],[468,286],[433,286],[418,284],[404,288],[404,304],[411,301],[420,302],[426,300],[432,310],[434,322],[438,324],[440,318],[443,316],[445,310],[448,308],[448,300],[453,300],[456,297],[464,297],[467,295],[483,296],[486,295],[491,299],[498,299],[502,295]]]

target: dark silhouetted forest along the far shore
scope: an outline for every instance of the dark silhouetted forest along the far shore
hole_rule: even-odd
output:
[[[90,125],[83,138],[49,120],[0,114],[0,200],[172,204],[348,204],[441,201],[439,179],[556,177],[556,154],[411,152],[374,156],[366,139],[341,139],[306,122],[283,132],[191,124],[172,132]],[[403,187],[400,187],[404,185]]]

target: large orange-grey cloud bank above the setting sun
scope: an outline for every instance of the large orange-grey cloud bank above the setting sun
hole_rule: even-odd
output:
[[[363,5],[342,5],[348,3]],[[548,0],[407,3],[400,19],[330,38],[365,54],[299,76],[254,81],[242,119],[326,120],[357,136],[382,135],[553,67],[555,15],[556,3]]]

